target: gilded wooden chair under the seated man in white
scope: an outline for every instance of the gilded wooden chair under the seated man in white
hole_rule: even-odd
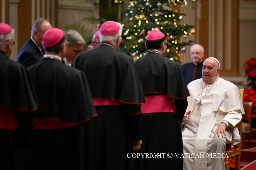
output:
[[[239,93],[240,93],[242,103],[244,103],[244,89],[239,89]],[[236,124],[236,126],[239,130],[240,137],[242,136],[242,122],[243,122],[243,118],[241,119],[241,121],[239,123]],[[228,155],[228,158],[225,158],[225,166],[226,166],[226,170],[229,170],[230,169],[230,158],[236,155],[235,170],[239,170],[240,169],[240,157],[241,157],[241,142],[234,146],[233,128],[230,128],[230,129],[231,129],[231,133],[232,133],[232,140],[231,140],[231,144],[227,144],[227,146],[226,146],[227,149],[225,151],[225,155]]]

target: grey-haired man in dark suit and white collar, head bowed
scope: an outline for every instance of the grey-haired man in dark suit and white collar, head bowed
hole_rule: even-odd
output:
[[[37,63],[44,56],[42,46],[43,34],[48,29],[52,28],[50,21],[44,18],[38,18],[34,23],[31,31],[31,37],[20,49],[17,56],[17,62],[28,67]]]

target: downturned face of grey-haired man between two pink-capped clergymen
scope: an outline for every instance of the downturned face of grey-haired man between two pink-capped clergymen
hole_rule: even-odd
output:
[[[76,55],[80,54],[83,50],[83,44],[73,44],[67,46],[65,57],[69,62],[73,62],[76,58]]]

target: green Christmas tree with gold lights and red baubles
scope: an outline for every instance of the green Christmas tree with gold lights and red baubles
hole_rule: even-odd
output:
[[[194,3],[194,0],[189,0]],[[121,3],[122,1],[115,1]],[[124,3],[124,2],[123,2]],[[191,4],[191,3],[190,3]],[[186,0],[136,0],[129,1],[124,11],[127,24],[124,24],[124,45],[122,50],[134,58],[146,53],[145,39],[149,31],[158,29],[166,35],[168,48],[165,57],[179,62],[180,53],[193,41],[180,42],[180,38],[191,35],[191,25],[181,25],[179,21],[185,14],[178,13],[177,6],[186,7]]]

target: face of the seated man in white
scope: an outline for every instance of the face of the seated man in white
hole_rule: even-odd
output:
[[[202,77],[206,84],[212,83],[220,74],[220,68],[216,60],[207,58],[203,63]]]

